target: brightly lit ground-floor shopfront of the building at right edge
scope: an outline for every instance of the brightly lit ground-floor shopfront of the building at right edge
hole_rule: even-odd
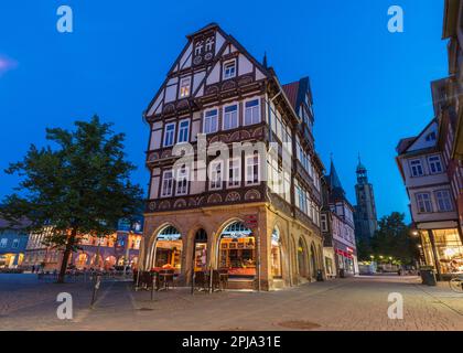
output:
[[[443,276],[463,272],[463,244],[456,228],[421,231],[420,234],[427,265],[439,264],[438,272]]]

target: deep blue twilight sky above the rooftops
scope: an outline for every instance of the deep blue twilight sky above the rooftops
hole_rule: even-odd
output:
[[[74,33],[56,31],[71,6]],[[387,31],[387,10],[405,11],[405,33]],[[127,152],[146,186],[148,127],[141,119],[184,46],[209,22],[261,60],[282,83],[309,75],[316,149],[355,203],[357,153],[374,183],[378,216],[408,212],[395,163],[401,137],[432,117],[430,82],[448,74],[443,0],[110,1],[2,0],[0,3],[0,170],[45,127],[71,128],[98,114],[127,133]],[[0,197],[17,180],[0,172]]]

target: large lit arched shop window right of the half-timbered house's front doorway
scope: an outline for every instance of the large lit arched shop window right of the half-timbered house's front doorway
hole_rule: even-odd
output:
[[[220,234],[218,267],[230,277],[256,276],[256,240],[243,222],[229,224]]]

